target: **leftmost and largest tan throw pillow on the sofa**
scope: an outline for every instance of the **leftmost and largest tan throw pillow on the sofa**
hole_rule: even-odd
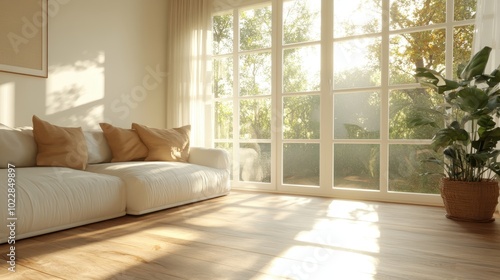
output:
[[[85,170],[87,144],[81,127],[60,127],[33,116],[36,165]]]

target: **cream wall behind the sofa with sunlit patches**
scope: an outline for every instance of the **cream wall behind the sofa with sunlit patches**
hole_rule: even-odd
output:
[[[164,127],[166,1],[49,2],[48,78],[0,72],[0,123]]]

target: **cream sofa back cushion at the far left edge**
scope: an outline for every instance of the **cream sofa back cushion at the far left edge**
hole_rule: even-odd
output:
[[[0,168],[35,166],[36,143],[31,127],[11,128],[0,124]]]

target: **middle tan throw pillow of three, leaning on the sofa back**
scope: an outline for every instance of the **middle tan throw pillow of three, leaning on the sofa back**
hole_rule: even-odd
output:
[[[148,148],[142,143],[136,131],[108,123],[99,125],[113,155],[111,162],[138,161],[148,156]]]

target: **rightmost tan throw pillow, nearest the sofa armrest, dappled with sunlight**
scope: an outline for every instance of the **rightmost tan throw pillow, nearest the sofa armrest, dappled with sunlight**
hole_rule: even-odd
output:
[[[142,142],[149,149],[146,160],[187,162],[191,125],[159,129],[133,123],[132,128],[137,131]]]

